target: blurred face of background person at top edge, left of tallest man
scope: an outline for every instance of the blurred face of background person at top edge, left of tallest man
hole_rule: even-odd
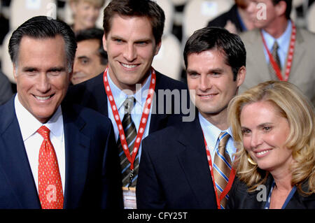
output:
[[[95,27],[99,11],[105,0],[69,0],[73,12],[73,31]]]

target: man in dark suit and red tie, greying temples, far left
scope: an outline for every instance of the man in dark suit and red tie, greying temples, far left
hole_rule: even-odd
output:
[[[62,103],[76,41],[59,20],[38,16],[9,43],[18,93],[0,107],[0,208],[119,208],[111,121]]]

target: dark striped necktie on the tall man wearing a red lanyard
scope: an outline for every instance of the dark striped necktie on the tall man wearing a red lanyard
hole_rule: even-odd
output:
[[[125,131],[125,137],[127,141],[127,145],[130,151],[130,156],[132,156],[134,150],[134,141],[137,138],[137,129],[132,121],[131,111],[134,107],[134,97],[128,97],[123,106],[125,106],[125,115],[123,117],[123,129]],[[130,161],[127,159],[125,152],[123,151],[123,146],[121,145],[120,138],[117,141],[119,157],[120,157],[120,168],[121,168],[121,177],[123,180],[123,187],[136,187],[137,185],[137,174],[139,168],[139,154],[134,160],[134,178],[132,180],[132,184],[130,183]]]

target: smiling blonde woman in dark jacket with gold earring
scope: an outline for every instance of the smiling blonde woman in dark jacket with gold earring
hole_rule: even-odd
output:
[[[315,208],[314,108],[300,90],[263,82],[228,113],[237,148],[228,208]]]

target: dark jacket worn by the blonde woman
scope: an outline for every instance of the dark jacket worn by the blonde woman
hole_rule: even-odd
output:
[[[265,183],[266,195],[268,197],[273,178],[269,174]],[[307,191],[307,182],[302,185],[302,189]],[[230,209],[264,209],[266,201],[258,201],[263,197],[262,189],[258,189],[257,192],[247,192],[248,187],[244,182],[235,178],[235,181],[230,190],[230,199],[228,200],[227,208]],[[297,190],[293,197],[288,202],[286,209],[314,209],[315,208],[315,194],[310,196],[302,196]]]

